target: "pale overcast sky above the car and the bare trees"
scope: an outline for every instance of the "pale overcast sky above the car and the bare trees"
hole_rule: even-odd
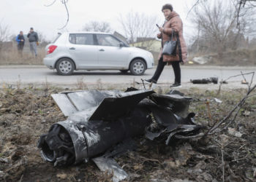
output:
[[[30,27],[34,31],[43,33],[46,39],[53,39],[67,20],[66,9],[60,0],[51,7],[45,7],[53,0],[0,0],[0,22],[10,27],[10,33],[19,31],[28,33]],[[186,19],[189,8],[195,0],[69,0],[69,23],[65,31],[80,31],[83,25],[91,20],[107,21],[114,31],[122,33],[118,23],[119,15],[126,15],[129,11],[143,12],[146,15],[157,15],[159,25],[164,21],[162,5],[173,4],[184,22],[184,36],[192,35],[189,20]],[[155,26],[155,25],[152,25]],[[63,31],[63,30],[62,30]]]

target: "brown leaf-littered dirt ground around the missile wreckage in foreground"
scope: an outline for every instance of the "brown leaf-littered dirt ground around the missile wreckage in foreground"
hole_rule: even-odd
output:
[[[50,97],[60,91],[64,90],[0,90],[0,181],[110,181],[111,175],[91,161],[60,168],[40,157],[39,136],[65,119]],[[246,90],[221,91],[219,95],[216,90],[196,88],[181,92],[193,97],[189,111],[195,112],[195,121],[211,127],[227,115]],[[256,181],[256,95],[246,100],[229,130],[175,141],[171,146],[143,136],[135,141],[136,151],[116,157],[129,173],[126,181],[222,181],[223,176],[225,181]]]

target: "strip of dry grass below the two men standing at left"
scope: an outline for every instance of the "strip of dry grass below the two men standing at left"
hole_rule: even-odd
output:
[[[37,58],[31,52],[23,51],[20,55],[16,47],[9,50],[0,51],[0,65],[42,65],[42,59],[45,58],[45,48],[37,47]]]

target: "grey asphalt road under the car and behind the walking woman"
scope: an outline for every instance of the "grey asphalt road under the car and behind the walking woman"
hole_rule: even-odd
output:
[[[140,79],[148,79],[154,74],[155,68],[148,69],[143,76],[133,76],[129,73],[121,74],[119,71],[75,71],[72,76],[59,76],[56,71],[45,66],[0,66],[0,82],[7,84],[49,84],[72,85],[83,79],[86,84],[132,84]],[[181,66],[181,82],[189,84],[190,79],[203,79],[219,77],[227,79],[230,76],[256,71],[256,67],[220,67],[220,66]],[[251,75],[246,75],[250,81]],[[233,77],[230,82],[241,84],[241,76]],[[173,68],[166,66],[159,78],[159,84],[171,84],[174,80]]]

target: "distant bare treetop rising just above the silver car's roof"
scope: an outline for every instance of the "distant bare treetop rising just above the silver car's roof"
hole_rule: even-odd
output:
[[[98,22],[98,21],[91,21],[86,23],[83,26],[83,31],[97,31],[97,32],[110,32],[112,29],[110,28],[110,23],[108,22]]]

